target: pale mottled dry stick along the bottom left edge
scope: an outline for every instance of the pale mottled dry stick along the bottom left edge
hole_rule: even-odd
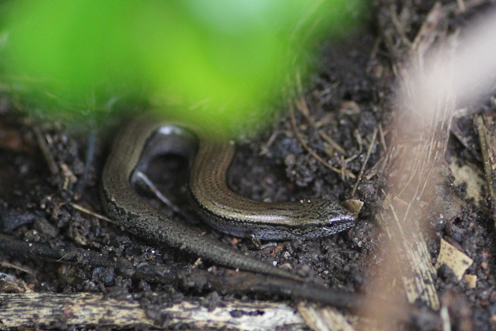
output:
[[[153,293],[151,297],[160,296]],[[7,329],[229,329],[301,330],[305,322],[294,308],[279,302],[223,301],[209,309],[202,300],[145,305],[102,294],[0,294],[2,327]]]

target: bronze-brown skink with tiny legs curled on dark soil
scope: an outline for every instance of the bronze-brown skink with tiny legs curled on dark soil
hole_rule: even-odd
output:
[[[144,169],[151,159],[165,153],[182,154],[194,159],[189,182],[192,200],[205,221],[219,231],[260,239],[306,239],[353,225],[354,215],[334,201],[260,202],[234,193],[226,184],[234,150],[229,141],[213,141],[201,132],[148,115],[138,117],[118,133],[104,166],[105,209],[125,229],[157,244],[232,268],[300,279],[169,218],[133,189],[135,171]]]

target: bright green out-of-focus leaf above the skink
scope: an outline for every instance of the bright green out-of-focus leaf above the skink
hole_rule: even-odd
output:
[[[224,126],[256,116],[254,109],[277,96],[285,74],[302,65],[299,52],[323,33],[357,24],[366,3],[13,2],[2,24],[2,64],[11,76],[50,82],[57,98],[83,108],[95,90],[101,100],[167,96],[202,105],[171,116]]]

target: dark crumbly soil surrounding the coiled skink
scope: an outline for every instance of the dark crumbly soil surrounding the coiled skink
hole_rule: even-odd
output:
[[[383,17],[384,11],[396,3],[382,2],[376,5],[366,29],[320,46],[319,57],[314,60],[316,71],[311,74],[310,82],[305,87],[304,99],[310,111],[309,117],[305,118],[299,110],[294,113],[298,130],[310,148],[330,165],[336,168],[344,166],[353,174],[361,171],[374,129],[380,126],[386,130],[391,122],[388,102],[395,79],[392,66],[404,56],[402,51],[406,52],[405,48],[401,48],[405,47],[401,43],[398,43],[396,54],[391,54],[385,46],[383,32],[393,27],[380,25],[387,23]],[[434,1],[398,2],[397,12],[405,8],[410,10],[411,24],[407,36],[412,39]],[[450,15],[447,22],[449,31],[464,26],[469,18],[476,17],[479,11],[490,7],[490,4],[486,4],[464,14]],[[72,132],[60,124],[35,124],[15,111],[19,107],[12,101],[14,99],[12,94],[6,92],[0,96],[0,230],[3,234],[14,240],[46,244],[52,249],[88,249],[109,260],[125,258],[131,265],[164,265],[182,269],[195,263],[196,257],[178,255],[168,247],[156,247],[115,224],[72,206],[75,203],[105,214],[99,199],[100,174],[113,132],[122,124],[121,121],[112,119],[114,125],[111,128],[101,129],[97,133],[95,158],[89,168],[84,190],[78,195],[75,192],[76,183],[84,169],[87,135]],[[489,102],[481,106],[480,111],[483,108],[491,108]],[[494,112],[494,108],[491,111]],[[473,116],[468,115],[456,123],[470,144],[464,145],[451,136],[448,154],[456,155],[462,161],[476,162],[483,169],[481,159],[474,157],[480,155],[480,151]],[[58,169],[56,174],[50,171],[46,157],[40,150],[35,127],[54,158]],[[320,135],[322,132],[340,145],[345,153],[332,149]],[[384,152],[381,142],[375,140],[365,173],[379,161]],[[349,160],[343,163],[343,159]],[[174,192],[173,199],[185,211],[186,217],[161,206],[158,201],[152,203],[178,219],[187,218],[186,222],[195,220],[195,217],[188,217],[192,212],[188,209],[186,199],[187,172],[177,173],[178,169],[184,169],[184,160],[168,158],[159,160],[157,165],[165,165],[168,172],[160,177],[152,170],[150,176],[162,182],[165,192]],[[168,176],[175,180],[167,181]],[[279,242],[275,247],[260,251],[255,250],[248,239],[215,232],[195,221],[191,226],[199,227],[207,235],[262,260],[302,269],[311,277],[322,279],[331,288],[350,292],[368,291],[370,279],[376,270],[372,266],[381,262],[381,255],[376,250],[385,236],[374,218],[384,198],[381,189],[388,185],[382,177],[363,178],[354,192],[356,179],[331,171],[313,157],[302,146],[287,114],[274,121],[273,126],[260,133],[258,138],[240,145],[229,181],[236,192],[257,200],[319,197],[363,201],[364,206],[356,225],[345,232],[314,240]],[[466,198],[465,189],[464,185],[456,188],[456,194],[462,199]],[[477,207],[475,203],[478,201],[470,199],[464,202],[466,207],[456,222],[446,226],[433,222],[434,235],[429,244],[434,263],[439,250],[439,238],[445,238],[470,256],[474,264],[469,268],[469,273],[477,275],[477,287],[469,288],[464,280],[459,282],[449,268],[441,267],[436,288],[441,301],[454,315],[463,312],[453,322],[453,330],[468,330],[466,328],[469,327],[473,327],[473,330],[493,330],[496,328],[494,220],[488,218],[488,205]],[[82,250],[74,254],[72,263],[61,264],[23,258],[23,254],[2,251],[0,271],[23,280],[35,292],[89,291],[123,298],[132,293],[143,307],[150,308],[150,315],[153,315],[154,304],[178,302],[183,296],[206,296],[210,302],[208,305],[213,306],[233,296],[226,294],[224,297],[216,292],[188,289],[180,282],[139,277],[127,272],[128,269],[122,265],[93,265],[85,261]],[[197,267],[208,269],[211,266],[203,262]],[[161,294],[152,297],[149,295],[152,291]],[[260,294],[235,296],[246,300],[278,299],[277,296]]]

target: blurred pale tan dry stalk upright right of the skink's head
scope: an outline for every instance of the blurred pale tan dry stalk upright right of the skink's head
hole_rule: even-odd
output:
[[[457,5],[458,10],[463,10],[467,3],[458,1]],[[394,103],[396,118],[388,128],[391,143],[384,168],[392,188],[386,193],[384,209],[378,217],[390,240],[383,247],[386,256],[381,266],[382,282],[376,281],[372,293],[393,289],[395,280],[401,278],[409,301],[420,298],[432,309],[439,308],[439,299],[426,235],[420,230],[427,226],[419,202],[429,201],[437,217],[447,218],[447,222],[463,210],[463,200],[449,190],[449,171],[444,165],[451,121],[457,105],[471,104],[493,90],[496,70],[496,46],[490,42],[496,32],[495,13],[464,31],[465,39],[461,39],[459,31],[450,36],[446,33],[444,20],[453,11],[456,8],[452,5],[435,4],[411,45],[404,40],[407,27],[384,32],[383,36],[391,58],[397,60],[393,67],[400,88]],[[391,11],[388,20],[400,22],[398,17]],[[400,44],[408,45],[408,52],[394,53]],[[404,54],[409,54],[408,61],[400,60]],[[478,118],[490,187],[494,177],[491,165],[496,160],[492,150],[496,145],[493,122],[492,117]],[[491,197],[496,201],[496,194]],[[409,267],[402,267],[405,265]],[[458,276],[461,275],[460,271]],[[371,305],[370,310],[380,314],[377,307]]]

